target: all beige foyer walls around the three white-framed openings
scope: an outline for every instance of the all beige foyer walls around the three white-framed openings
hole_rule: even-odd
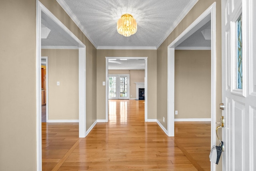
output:
[[[105,56],[148,56],[148,118],[157,118],[167,128],[166,122],[162,123],[162,118],[167,118],[167,46],[214,0],[199,0],[158,50],[98,51],[58,2],[40,2],[86,45],[86,129],[96,119],[105,119],[105,87],[102,86]],[[216,2],[216,104],[219,104],[221,0]],[[36,170],[36,1],[1,0],[0,16],[0,170]],[[216,111],[219,120],[218,106]]]

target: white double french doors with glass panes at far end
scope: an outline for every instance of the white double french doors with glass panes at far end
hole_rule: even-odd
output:
[[[108,75],[108,99],[129,99],[130,75]]]

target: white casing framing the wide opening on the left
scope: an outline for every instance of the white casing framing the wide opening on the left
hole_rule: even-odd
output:
[[[86,46],[56,18],[41,2],[36,11],[36,161],[37,170],[42,170],[42,87],[41,87],[41,20],[44,17],[78,49],[79,77],[79,137],[86,137]]]

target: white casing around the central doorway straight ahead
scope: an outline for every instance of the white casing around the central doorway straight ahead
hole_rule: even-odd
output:
[[[106,105],[106,122],[108,122],[108,59],[135,59],[145,60],[145,121],[148,121],[148,57],[105,57],[106,68],[105,68],[105,105]]]

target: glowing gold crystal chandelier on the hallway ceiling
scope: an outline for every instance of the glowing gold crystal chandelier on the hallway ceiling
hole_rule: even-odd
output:
[[[119,34],[129,37],[137,32],[136,20],[131,14],[123,14],[117,22],[116,29]]]

